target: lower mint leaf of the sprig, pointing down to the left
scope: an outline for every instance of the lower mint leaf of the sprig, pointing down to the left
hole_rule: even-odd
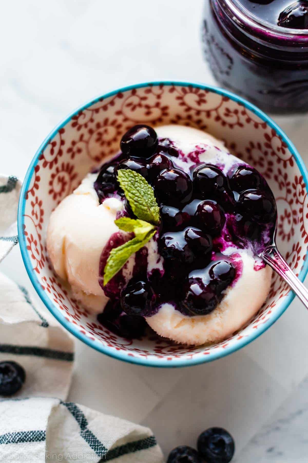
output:
[[[104,268],[104,285],[114,277],[123,265],[128,261],[135,252],[143,248],[143,246],[155,235],[156,229],[148,232],[144,239],[139,240],[137,237],[127,241],[121,246],[114,248],[110,251]]]

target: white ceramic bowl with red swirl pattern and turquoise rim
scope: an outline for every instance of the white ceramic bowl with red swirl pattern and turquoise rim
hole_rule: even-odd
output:
[[[188,366],[223,357],[266,331],[294,294],[273,275],[270,294],[254,319],[231,338],[187,347],[149,334],[129,341],[116,336],[80,307],[54,274],[46,253],[51,211],[94,166],[119,149],[122,134],[137,123],[191,125],[222,138],[236,156],[269,182],[278,206],[278,247],[304,279],[308,243],[307,170],[283,131],[255,106],[218,88],[183,82],[146,83],[90,101],[57,125],[36,152],[19,200],[20,248],[31,282],[56,319],[77,338],[111,357],[157,367]]]

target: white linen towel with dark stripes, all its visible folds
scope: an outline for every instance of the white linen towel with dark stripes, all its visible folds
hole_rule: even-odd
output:
[[[0,261],[18,243],[20,187],[16,177],[0,176]],[[150,429],[65,402],[73,359],[71,335],[0,273],[0,362],[26,373],[17,394],[0,396],[0,462],[162,463]]]

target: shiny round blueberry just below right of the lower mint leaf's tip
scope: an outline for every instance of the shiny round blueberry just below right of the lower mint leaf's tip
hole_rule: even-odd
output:
[[[121,307],[128,315],[145,316],[154,303],[155,294],[148,282],[133,278],[121,291]]]

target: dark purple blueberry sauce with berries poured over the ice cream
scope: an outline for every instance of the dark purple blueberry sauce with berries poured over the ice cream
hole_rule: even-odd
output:
[[[142,336],[144,317],[157,313],[165,302],[187,316],[215,310],[225,290],[242,275],[238,250],[260,252],[276,220],[273,194],[255,169],[218,148],[213,151],[215,165],[204,163],[201,155],[212,147],[202,145],[184,155],[150,129],[130,129],[121,141],[125,152],[104,164],[94,182],[102,203],[119,194],[119,169],[136,170],[152,186],[160,207],[155,237],[106,286],[103,271],[110,250],[132,235],[114,233],[101,255],[100,285],[110,300],[98,321],[129,338]],[[122,214],[134,218],[124,195],[120,197]],[[258,261],[255,269],[261,268]]]

